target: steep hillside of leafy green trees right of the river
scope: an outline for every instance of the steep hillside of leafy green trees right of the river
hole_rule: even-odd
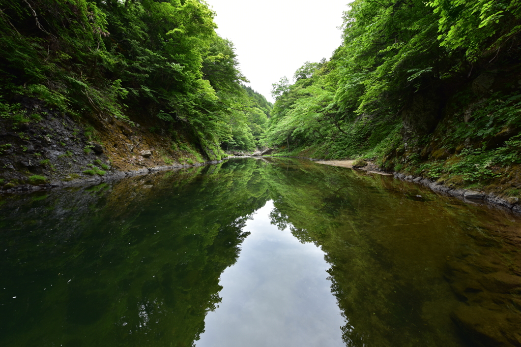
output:
[[[331,59],[274,84],[267,143],[517,196],[521,2],[350,5]]]

